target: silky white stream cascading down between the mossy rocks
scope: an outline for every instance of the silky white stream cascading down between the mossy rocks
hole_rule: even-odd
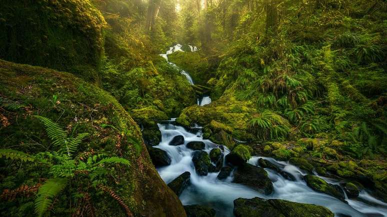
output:
[[[190,47],[191,52],[197,48]],[[181,45],[177,44],[171,47],[165,54],[160,54],[167,61],[167,55],[173,52],[181,51]],[[175,64],[168,62],[177,69]],[[194,84],[189,73],[179,69],[189,83]],[[206,105],[211,103],[209,96],[203,96],[197,100],[198,105]],[[191,141],[202,141],[205,143],[203,151],[209,153],[211,149],[219,147],[218,144],[212,143],[210,140],[202,138],[200,126],[195,126],[191,129],[185,129],[175,125],[175,119],[162,121],[158,124],[161,131],[161,142],[154,148],[159,148],[167,152],[171,159],[169,166],[157,168],[157,171],[165,183],[169,183],[182,173],[188,171],[190,175],[190,185],[182,192],[179,199],[183,205],[203,205],[215,209],[217,217],[233,217],[233,201],[237,198],[250,199],[259,197],[263,199],[282,199],[292,202],[305,204],[315,204],[328,208],[337,217],[383,217],[387,216],[387,204],[370,196],[365,190],[361,191],[356,199],[348,199],[345,196],[344,203],[334,197],[323,193],[315,192],[309,188],[303,181],[302,176],[306,175],[305,171],[284,161],[277,161],[268,157],[253,156],[248,163],[256,166],[259,158],[270,161],[282,171],[293,175],[296,180],[289,181],[283,178],[279,173],[271,169],[265,169],[269,179],[273,183],[274,191],[270,195],[263,195],[249,187],[232,183],[231,175],[223,181],[216,178],[217,173],[208,173],[207,176],[198,176],[192,163],[193,150],[186,148],[186,144]],[[170,146],[169,142],[173,137],[182,135],[184,144],[179,146]],[[226,156],[229,151],[224,149],[223,155]],[[224,162],[223,162],[224,165]],[[318,176],[317,174],[314,174]],[[330,184],[343,183],[338,180],[324,179]]]

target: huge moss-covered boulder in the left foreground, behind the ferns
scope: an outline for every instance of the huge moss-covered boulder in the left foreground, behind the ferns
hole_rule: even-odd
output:
[[[0,129],[1,148],[20,144],[15,149],[29,154],[55,151],[54,147],[49,147],[50,141],[44,127],[32,115],[50,118],[63,126],[68,134],[89,133],[87,140],[79,146],[79,153],[122,156],[130,161],[130,167],[113,166],[111,173],[114,179],[106,177],[105,185],[122,199],[135,216],[185,216],[180,201],[157,174],[145,145],[140,142],[137,147],[129,139],[142,141],[139,127],[107,92],[69,73],[3,60],[0,60],[0,76],[1,103],[14,105],[1,111],[9,122],[9,125]],[[21,145],[30,144],[31,135],[42,146]],[[34,167],[33,164],[24,164],[23,170],[36,171]],[[11,189],[24,183],[34,185],[39,182],[38,178],[50,178],[45,167],[39,167],[38,176],[36,173],[17,172],[13,167],[9,169],[1,172],[0,181],[2,183],[5,177],[14,177],[17,181],[9,186]],[[91,189],[87,191],[92,196],[95,215],[124,215],[113,198],[101,197],[99,192]],[[64,197],[59,195],[58,203],[53,206],[51,212],[55,215],[68,215],[63,212],[69,209],[67,201],[61,201]],[[33,203],[33,200],[33,197],[24,198],[23,203]],[[23,213],[17,211],[15,203],[4,203],[8,208],[6,215]]]

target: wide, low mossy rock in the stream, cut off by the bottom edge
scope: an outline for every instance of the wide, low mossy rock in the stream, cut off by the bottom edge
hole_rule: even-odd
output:
[[[333,217],[328,209],[311,204],[261,198],[234,201],[235,217]]]

